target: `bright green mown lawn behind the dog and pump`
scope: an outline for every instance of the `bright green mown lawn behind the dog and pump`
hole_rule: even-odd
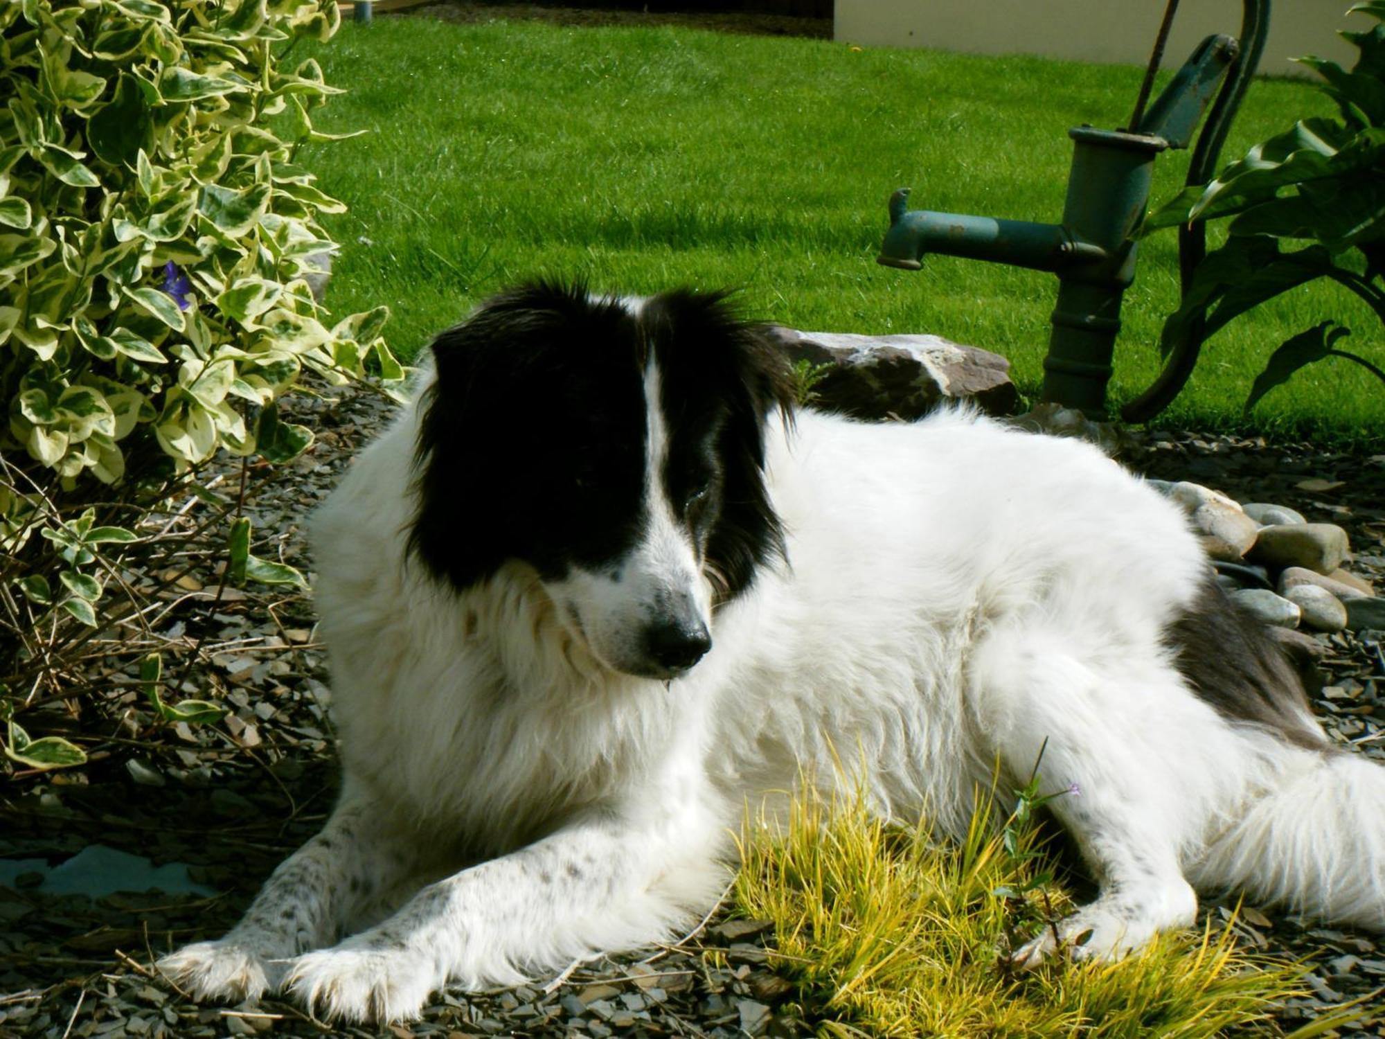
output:
[[[798,328],[935,332],[1004,353],[1026,392],[1042,377],[1054,278],[949,258],[921,273],[881,267],[885,198],[907,184],[918,208],[1055,220],[1066,129],[1122,123],[1140,80],[1133,66],[425,17],[348,24],[313,54],[348,89],[319,127],[370,130],[306,157],[350,205],[330,224],[343,249],[328,305],[388,303],[406,356],[501,285],[584,276],[622,292],[731,285],[755,314]],[[1302,83],[1259,82],[1226,158],[1327,112]],[[1186,161],[1161,158],[1156,201]],[[1177,295],[1172,234],[1141,248],[1116,403],[1154,377]],[[1159,423],[1235,427],[1269,350],[1325,317],[1379,360],[1366,308],[1307,287],[1212,339]],[[1385,389],[1324,364],[1256,416],[1278,434],[1377,439]]]

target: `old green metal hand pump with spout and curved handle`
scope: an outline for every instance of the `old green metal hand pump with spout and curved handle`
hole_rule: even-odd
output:
[[[1168,0],[1129,126],[1120,130],[1078,126],[1068,132],[1073,155],[1062,223],[907,209],[909,188],[900,188],[889,199],[889,231],[878,262],[920,270],[925,254],[940,252],[1057,274],[1058,301],[1050,319],[1043,399],[1104,417],[1120,330],[1120,298],[1134,280],[1136,244],[1130,234],[1144,219],[1154,159],[1166,148],[1188,147],[1194,127],[1212,103],[1192,151],[1187,183],[1209,180],[1265,50],[1269,0],[1242,0],[1242,4],[1240,39],[1219,35],[1202,40],[1163,93],[1147,105],[1179,6],[1179,0]],[[1201,224],[1180,230],[1184,287],[1205,252]],[[1187,381],[1199,346],[1201,327],[1197,327],[1176,345],[1159,380],[1126,406],[1123,417],[1144,421],[1162,410]]]

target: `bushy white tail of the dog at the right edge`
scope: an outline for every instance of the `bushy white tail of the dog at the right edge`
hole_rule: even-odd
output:
[[[1259,795],[1213,838],[1194,882],[1385,931],[1385,766],[1274,743]]]

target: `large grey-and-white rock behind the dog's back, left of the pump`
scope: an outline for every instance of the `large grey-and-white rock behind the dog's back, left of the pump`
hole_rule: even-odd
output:
[[[856,418],[920,418],[942,400],[975,400],[1011,414],[1019,393],[1010,362],[936,335],[857,335],[773,330],[789,360],[827,364],[814,403]]]

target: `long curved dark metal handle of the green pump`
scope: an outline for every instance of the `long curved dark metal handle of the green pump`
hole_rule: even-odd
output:
[[[1244,14],[1241,17],[1241,54],[1235,60],[1231,75],[1212,103],[1208,121],[1198,134],[1198,143],[1192,148],[1192,161],[1188,163],[1186,184],[1205,184],[1216,172],[1217,157],[1226,136],[1231,132],[1231,122],[1241,107],[1255,69],[1259,68],[1260,55],[1265,53],[1265,39],[1270,32],[1270,0],[1244,0]],[[1199,220],[1194,224],[1179,227],[1179,281],[1183,294],[1188,291],[1192,273],[1206,256],[1206,226]],[[1120,417],[1127,423],[1147,423],[1159,411],[1173,403],[1192,368],[1198,363],[1202,352],[1202,331],[1206,324],[1206,312],[1198,314],[1187,326],[1187,332],[1173,344],[1169,359],[1159,377],[1134,400],[1120,409]]]

